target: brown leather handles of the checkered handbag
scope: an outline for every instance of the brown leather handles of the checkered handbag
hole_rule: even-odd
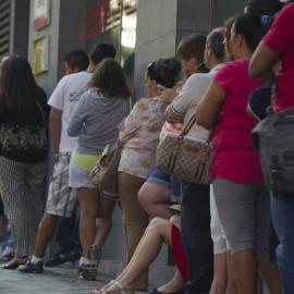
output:
[[[193,114],[191,117],[191,119],[188,120],[187,124],[185,125],[185,127],[183,128],[183,131],[181,132],[181,134],[175,138],[174,144],[173,144],[173,148],[172,148],[172,156],[176,157],[180,150],[180,147],[182,145],[183,138],[184,136],[189,132],[189,130],[192,128],[192,126],[195,124],[196,122],[196,115]],[[201,157],[200,157],[200,163],[206,163],[208,156],[209,156],[209,151],[210,151],[210,142],[212,139],[212,135],[213,135],[213,131],[215,131],[215,126],[212,126],[208,133],[207,139],[203,146],[203,151],[201,151]]]

